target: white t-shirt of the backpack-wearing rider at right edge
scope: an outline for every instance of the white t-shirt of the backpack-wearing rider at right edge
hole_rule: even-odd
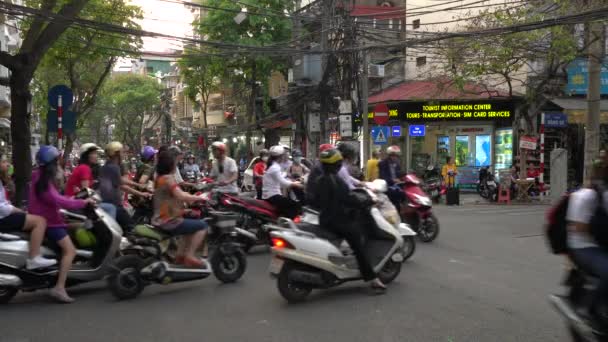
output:
[[[608,191],[603,194],[604,208],[608,210]],[[597,194],[593,189],[581,189],[570,195],[566,219],[570,222],[589,223],[597,208]],[[572,249],[597,247],[590,233],[568,230],[568,247]]]

